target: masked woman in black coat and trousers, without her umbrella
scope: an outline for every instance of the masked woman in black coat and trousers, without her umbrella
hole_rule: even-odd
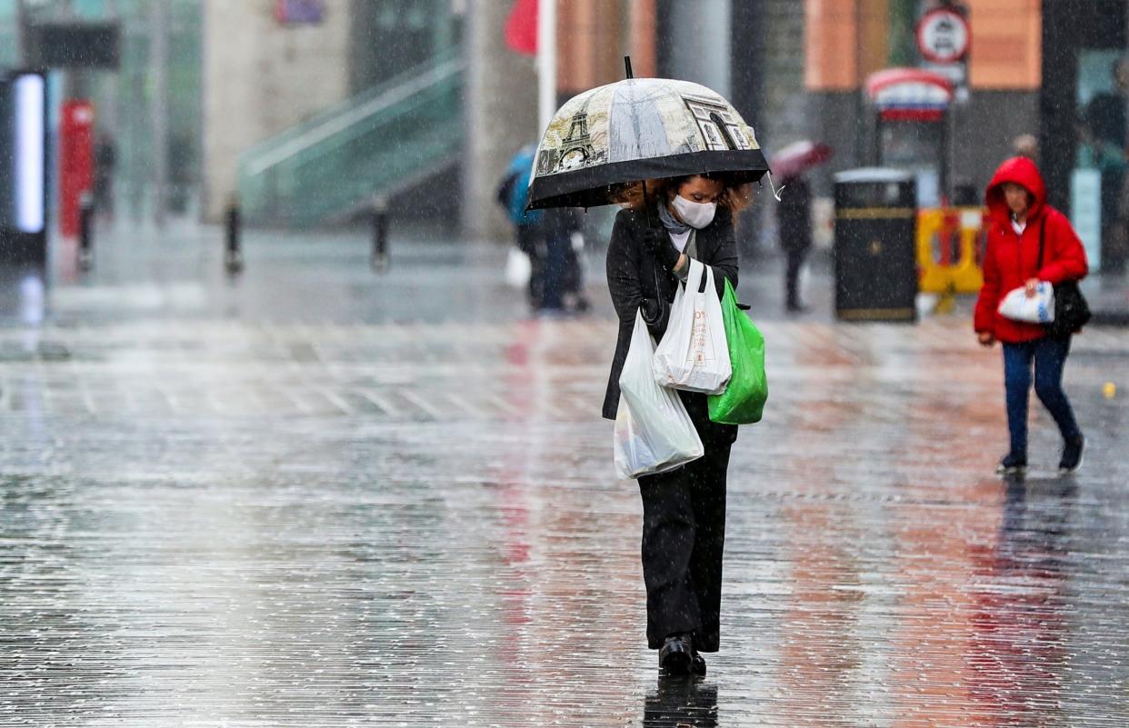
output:
[[[733,216],[747,190],[724,175],[692,175],[628,187],[607,251],[607,286],[620,319],[603,415],[615,419],[620,371],[636,312],[656,339],[690,258],[714,269],[721,296],[737,286]],[[642,495],[642,569],[647,587],[647,642],[667,673],[706,674],[699,652],[718,649],[725,480],[737,428],[710,421],[704,394],[679,392],[706,454],[682,467],[639,477]]]

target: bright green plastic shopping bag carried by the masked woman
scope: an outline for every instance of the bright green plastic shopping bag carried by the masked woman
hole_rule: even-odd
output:
[[[728,280],[721,297],[721,317],[733,376],[725,392],[709,396],[709,419],[721,424],[760,422],[769,398],[769,381],[764,375],[764,336],[745,312],[737,308],[737,295]]]

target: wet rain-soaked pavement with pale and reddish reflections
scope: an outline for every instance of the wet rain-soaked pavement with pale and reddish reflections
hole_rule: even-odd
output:
[[[113,255],[0,327],[0,725],[1129,725],[1119,330],[1067,367],[1083,471],[1053,474],[1033,406],[1033,471],[1001,481],[999,352],[966,319],[764,308],[721,651],[667,679],[598,419],[606,313],[525,318],[490,257],[402,257],[306,318],[264,302],[285,278],[244,307],[239,281],[126,282]],[[361,286],[347,255],[289,255],[265,271]],[[385,316],[423,274],[426,315]],[[489,315],[445,316],[482,286]]]

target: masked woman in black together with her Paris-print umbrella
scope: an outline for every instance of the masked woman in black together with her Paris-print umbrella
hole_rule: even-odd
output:
[[[630,59],[624,65],[627,79],[584,91],[553,114],[530,183],[531,209],[610,202],[627,208],[615,218],[607,249],[607,286],[620,319],[603,407],[610,420],[616,419],[636,321],[655,336],[665,333],[691,258],[709,266],[719,297],[726,281],[736,288],[733,214],[747,202],[745,185],[768,172],[752,128],[716,91],[676,79],[632,78]],[[654,177],[660,178],[637,182]],[[669,393],[657,394],[671,403]],[[719,641],[725,480],[737,428],[710,421],[706,395],[679,396],[702,456],[662,473],[627,472],[653,473],[638,479],[647,642],[659,650],[666,673],[703,675],[699,652],[717,651]]]

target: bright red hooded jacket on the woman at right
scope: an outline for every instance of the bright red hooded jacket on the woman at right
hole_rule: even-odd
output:
[[[1004,199],[1004,183],[1021,184],[1034,196],[1027,227],[1017,235],[1012,211]],[[1035,163],[1013,157],[996,170],[984,193],[988,203],[988,249],[984,253],[984,284],[977,300],[977,333],[990,332],[1006,343],[1032,341],[1047,335],[1039,324],[1012,321],[997,313],[999,301],[1030,278],[1050,283],[1082,280],[1088,272],[1086,251],[1066,216],[1047,204],[1047,185]],[[1043,266],[1039,267],[1039,233],[1045,226]]]

